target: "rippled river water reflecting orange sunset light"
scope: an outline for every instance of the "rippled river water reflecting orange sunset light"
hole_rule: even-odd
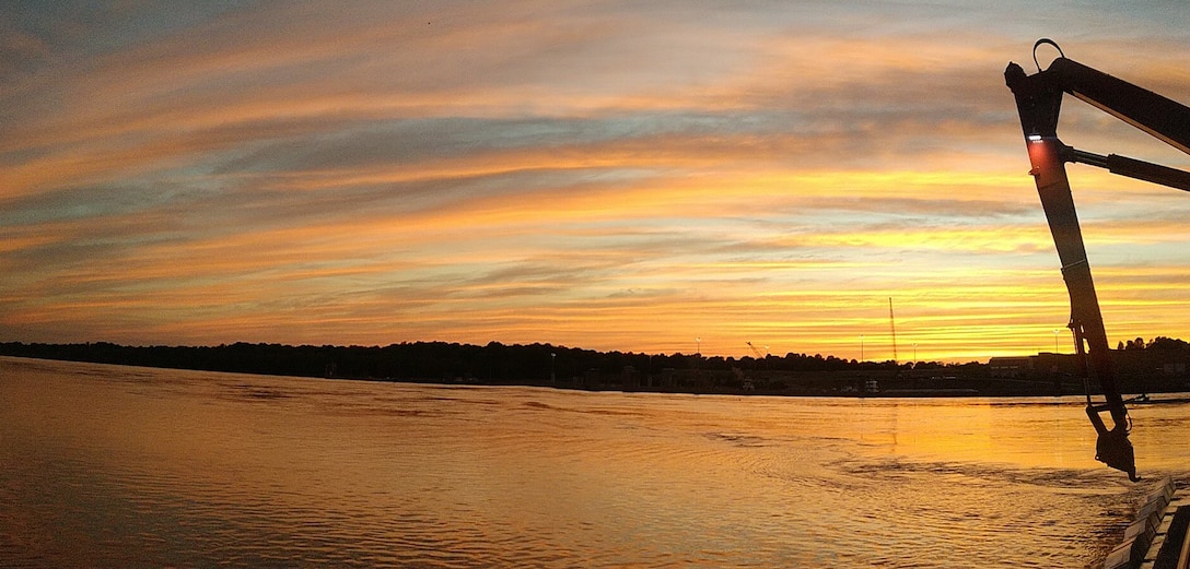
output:
[[[0,358],[0,567],[1076,567],[1190,405],[794,399]],[[1183,489],[1183,492],[1185,492]]]

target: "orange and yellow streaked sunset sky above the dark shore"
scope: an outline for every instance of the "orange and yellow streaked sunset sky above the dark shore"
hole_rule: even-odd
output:
[[[1070,350],[1004,67],[1190,102],[1190,5],[988,4],[5,2],[0,341]],[[1069,172],[1110,343],[1190,339],[1190,195]]]

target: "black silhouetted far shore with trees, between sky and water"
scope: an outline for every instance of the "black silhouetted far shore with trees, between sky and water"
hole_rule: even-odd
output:
[[[1044,397],[1084,394],[1072,356],[1047,356],[1046,373],[990,363],[858,362],[787,354],[707,358],[699,354],[601,353],[550,344],[471,346],[416,342],[388,347],[234,343],[215,347],[129,347],[114,343],[0,343],[0,355],[167,369],[250,373],[441,385],[525,385],[622,391],[791,397]],[[1122,358],[1121,358],[1122,359]],[[1151,363],[1139,366],[1153,369]],[[1127,369],[1125,369],[1127,372]],[[1185,374],[1121,374],[1126,393],[1190,391]],[[1097,390],[1092,385],[1092,393]]]

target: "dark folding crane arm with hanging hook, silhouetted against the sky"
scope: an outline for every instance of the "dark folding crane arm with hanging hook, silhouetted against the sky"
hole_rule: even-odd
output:
[[[1052,40],[1039,39],[1033,45],[1034,62],[1036,49],[1041,44],[1058,48]],[[1058,52],[1061,55],[1060,48]],[[1132,443],[1128,441],[1132,424],[1115,385],[1103,316],[1086,261],[1065,163],[1079,162],[1106,167],[1115,173],[1182,190],[1190,190],[1190,173],[1133,158],[1098,156],[1066,146],[1058,139],[1058,115],[1061,112],[1061,97],[1069,93],[1190,153],[1190,108],[1067,59],[1064,55],[1054,59],[1048,69],[1039,69],[1032,76],[1026,75],[1020,65],[1009,63],[1004,70],[1004,81],[1016,97],[1016,110],[1033,166],[1029,173],[1036,182],[1041,207],[1061,263],[1063,279],[1070,293],[1070,329],[1075,334],[1075,348],[1084,356],[1088,378],[1098,380],[1103,388],[1103,405],[1091,404],[1088,391],[1086,412],[1100,434],[1096,459],[1128,473],[1129,479],[1139,480]],[[1114,423],[1111,429],[1104,425],[1100,411],[1110,413]]]

